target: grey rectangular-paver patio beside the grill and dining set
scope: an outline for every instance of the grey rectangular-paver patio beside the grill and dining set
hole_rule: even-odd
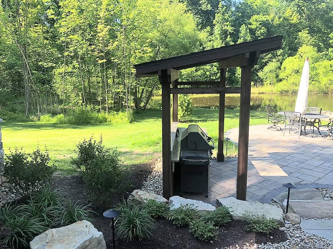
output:
[[[281,187],[282,183],[333,184],[333,141],[267,130],[269,125],[252,125],[249,129],[247,200],[258,201],[262,195]],[[238,141],[238,128],[225,133]],[[212,161],[209,198],[184,195],[184,198],[215,204],[216,198],[235,197],[237,158]]]

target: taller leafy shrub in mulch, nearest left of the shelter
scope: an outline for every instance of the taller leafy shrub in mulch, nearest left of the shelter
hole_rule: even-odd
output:
[[[114,195],[125,189],[124,173],[119,166],[116,149],[109,150],[100,141],[83,140],[77,145],[77,157],[72,160],[83,173],[86,189],[92,200],[103,206],[112,205]]]

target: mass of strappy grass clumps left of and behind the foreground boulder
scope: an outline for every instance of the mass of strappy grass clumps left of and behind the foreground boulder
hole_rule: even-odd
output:
[[[2,240],[10,248],[24,248],[37,235],[50,228],[65,226],[79,220],[90,220],[92,211],[86,206],[72,204],[61,192],[49,185],[28,199],[28,204],[0,208],[0,224],[8,230]]]

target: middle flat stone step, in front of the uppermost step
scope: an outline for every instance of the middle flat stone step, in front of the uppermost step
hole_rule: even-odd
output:
[[[287,200],[284,200],[282,206],[286,205]],[[300,217],[333,218],[333,201],[289,200],[288,212]]]

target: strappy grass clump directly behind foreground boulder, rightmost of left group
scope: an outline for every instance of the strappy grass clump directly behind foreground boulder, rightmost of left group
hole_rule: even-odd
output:
[[[78,202],[72,203],[70,200],[67,202],[66,206],[63,208],[61,214],[63,226],[73,224],[80,220],[91,221],[93,211],[88,206],[79,205]]]

